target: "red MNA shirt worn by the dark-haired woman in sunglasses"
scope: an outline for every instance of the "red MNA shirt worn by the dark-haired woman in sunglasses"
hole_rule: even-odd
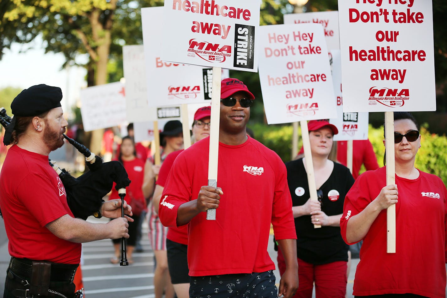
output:
[[[441,179],[419,171],[417,179],[396,175],[396,253],[387,253],[387,212],[372,223],[360,249],[354,295],[411,293],[445,297],[447,190]],[[386,186],[386,169],[360,175],[345,197],[340,220],[346,242],[348,220]],[[351,244],[351,243],[348,243]]]

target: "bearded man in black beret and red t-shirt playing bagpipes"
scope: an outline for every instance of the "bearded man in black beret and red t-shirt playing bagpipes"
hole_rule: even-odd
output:
[[[82,183],[71,177],[72,185],[64,187],[48,163],[49,153],[63,145],[67,126],[61,99],[59,87],[42,84],[23,90],[11,104],[14,118],[6,127],[4,144],[13,146],[8,150],[0,174],[0,209],[12,256],[4,298],[72,298],[80,243],[129,237],[127,221],[133,220],[120,217],[121,200],[101,204],[100,198],[97,212],[105,217],[118,217],[106,224],[80,219],[92,213],[77,216],[80,212],[72,207],[76,202],[67,202],[67,197],[73,196],[68,188],[77,189]],[[84,192],[94,188],[95,185],[84,187]],[[80,204],[77,205],[80,209]],[[126,203],[123,208],[126,214],[132,214]]]

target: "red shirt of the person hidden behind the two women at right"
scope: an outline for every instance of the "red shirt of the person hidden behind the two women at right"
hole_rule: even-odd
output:
[[[379,168],[377,157],[375,156],[374,149],[369,140],[353,140],[352,148],[352,176],[354,179],[357,179],[362,164],[365,165],[367,171],[377,170]],[[337,162],[341,163],[343,166],[347,166],[347,152],[348,142],[337,141]],[[298,154],[303,153],[304,149],[301,147]]]

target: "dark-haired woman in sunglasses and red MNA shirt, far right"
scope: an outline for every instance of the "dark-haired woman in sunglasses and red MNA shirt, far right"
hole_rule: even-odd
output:
[[[355,297],[445,297],[447,190],[414,167],[420,147],[416,120],[394,112],[396,184],[386,185],[382,167],[360,175],[346,195],[342,237],[348,244],[363,239]],[[387,253],[386,209],[393,204],[396,253]]]

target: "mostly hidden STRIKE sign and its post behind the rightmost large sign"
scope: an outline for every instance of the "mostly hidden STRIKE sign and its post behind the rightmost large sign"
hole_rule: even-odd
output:
[[[367,112],[350,112],[343,113],[343,96],[342,96],[342,61],[340,50],[330,51],[332,57],[332,81],[334,84],[334,93],[337,98],[337,118],[329,119],[329,123],[335,125],[338,134],[334,136],[334,141],[347,141],[347,158],[346,166],[352,174],[352,156],[353,156],[353,140],[367,140],[368,138],[368,113]]]

